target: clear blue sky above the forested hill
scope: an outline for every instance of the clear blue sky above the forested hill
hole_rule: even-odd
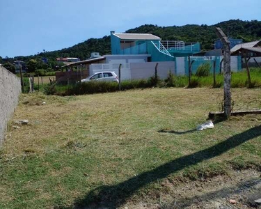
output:
[[[0,0],[0,56],[29,56],[143,24],[261,20],[260,0]]]

